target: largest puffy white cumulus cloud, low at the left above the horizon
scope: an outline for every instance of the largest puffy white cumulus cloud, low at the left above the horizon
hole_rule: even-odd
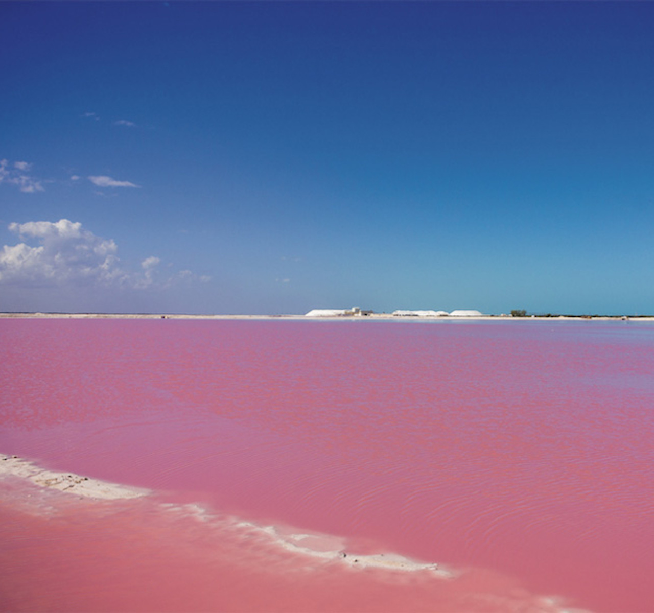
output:
[[[118,258],[118,246],[82,227],[80,222],[10,224],[24,242],[0,251],[0,284],[21,287],[88,285],[135,290],[166,288],[179,280],[203,280],[190,271],[158,274],[160,258],[146,257],[141,270],[130,271]],[[27,244],[27,242],[36,244]]]

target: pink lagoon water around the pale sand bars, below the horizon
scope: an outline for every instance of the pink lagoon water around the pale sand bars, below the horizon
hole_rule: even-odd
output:
[[[3,610],[654,611],[652,325],[0,320],[0,344],[1,452],[156,490],[1,483]]]

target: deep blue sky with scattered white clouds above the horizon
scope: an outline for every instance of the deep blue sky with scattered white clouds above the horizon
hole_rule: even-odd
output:
[[[654,313],[653,24],[0,3],[0,310]]]

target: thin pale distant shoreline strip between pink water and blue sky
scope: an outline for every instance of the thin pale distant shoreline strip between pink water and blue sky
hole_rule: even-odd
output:
[[[341,321],[393,321],[393,322],[561,322],[561,321],[633,321],[654,322],[652,315],[528,315],[514,317],[510,315],[477,315],[477,316],[397,316],[390,313],[372,313],[366,316],[320,316],[305,315],[211,315],[211,314],[181,314],[181,313],[0,313],[0,319],[167,319],[167,320],[293,320],[311,322],[341,322]]]

